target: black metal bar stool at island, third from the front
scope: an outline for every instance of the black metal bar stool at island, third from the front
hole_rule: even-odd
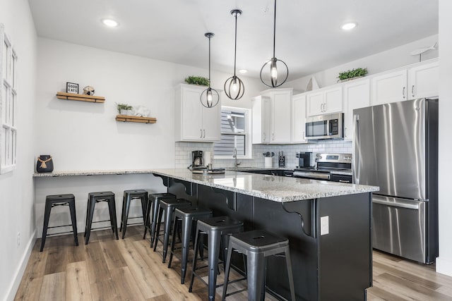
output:
[[[186,265],[189,260],[189,245],[190,245],[190,236],[193,232],[193,223],[194,221],[198,221],[198,219],[205,219],[208,217],[212,217],[212,210],[201,208],[197,206],[186,207],[186,208],[177,208],[174,211],[174,226],[172,231],[172,243],[171,250],[169,251],[169,262],[168,268],[171,267],[172,257],[174,255],[174,246],[176,245],[176,233],[178,231],[179,221],[181,223],[182,229],[182,259],[181,259],[181,283],[185,282],[186,275]]]

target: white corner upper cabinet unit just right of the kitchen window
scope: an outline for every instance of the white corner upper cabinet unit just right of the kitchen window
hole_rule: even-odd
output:
[[[290,143],[292,89],[273,89],[251,99],[253,107],[252,142]],[[269,109],[268,109],[269,108]]]

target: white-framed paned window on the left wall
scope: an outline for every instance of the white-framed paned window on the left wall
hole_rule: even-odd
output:
[[[17,55],[0,24],[0,173],[16,168]]]

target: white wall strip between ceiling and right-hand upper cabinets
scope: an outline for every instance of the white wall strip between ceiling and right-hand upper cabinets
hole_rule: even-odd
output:
[[[285,83],[285,87],[293,87],[296,90],[305,91],[308,82],[311,79],[311,76],[314,76],[317,83],[319,84],[319,87],[326,87],[329,85],[334,85],[338,81],[339,73],[346,70],[355,68],[367,68],[369,75],[371,75],[386,70],[407,66],[412,63],[417,63],[419,61],[419,56],[411,56],[410,52],[415,49],[430,47],[438,42],[438,39],[438,35],[432,35],[424,39],[419,39],[415,42],[379,52],[378,54],[366,56],[362,59],[357,59],[340,66],[335,66],[333,68],[323,70],[319,73],[314,73],[313,75],[305,76],[297,80],[292,80]],[[438,57],[439,46],[441,45],[438,44],[436,46],[436,50],[430,50],[425,54],[422,54],[422,61]]]

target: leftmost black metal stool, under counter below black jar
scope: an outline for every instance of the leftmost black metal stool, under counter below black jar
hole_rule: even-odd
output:
[[[69,224],[69,225],[49,227],[50,211],[52,210],[53,207],[56,207],[56,206],[69,206],[69,211],[71,211],[72,231],[47,234],[47,229],[71,226],[71,224]],[[42,227],[42,240],[41,240],[40,252],[42,252],[42,249],[44,249],[45,239],[47,238],[48,235],[57,235],[57,234],[64,234],[64,233],[71,233],[71,232],[73,233],[73,239],[75,240],[76,245],[78,245],[77,219],[76,219],[76,197],[74,197],[73,194],[47,195],[47,197],[45,197],[44,226]]]

